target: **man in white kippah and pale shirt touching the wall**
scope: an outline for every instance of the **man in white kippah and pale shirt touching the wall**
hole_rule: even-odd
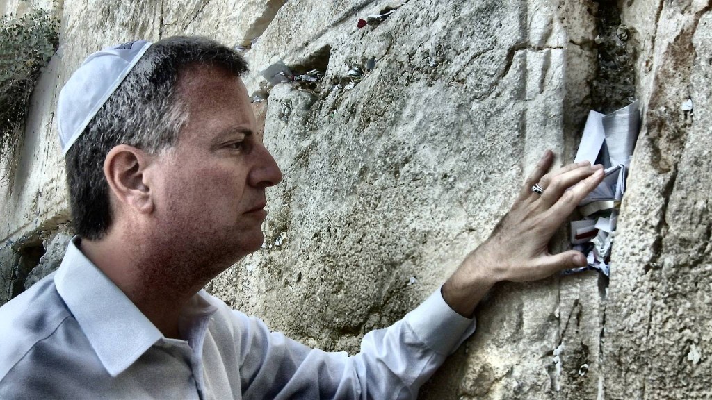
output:
[[[585,265],[547,243],[600,166],[545,174],[547,152],[490,238],[360,354],[230,310],[201,288],[261,247],[265,190],[281,180],[246,68],[213,41],[167,38],[95,53],[70,78],[58,117],[78,236],[56,274],[0,308],[1,399],[412,398],[496,282]]]

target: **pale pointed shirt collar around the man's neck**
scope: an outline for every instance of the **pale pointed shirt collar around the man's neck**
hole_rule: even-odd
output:
[[[100,362],[112,377],[116,377],[161,340],[163,335],[134,303],[84,256],[77,247],[79,240],[79,236],[74,236],[69,242],[54,278],[55,285]],[[198,293],[184,312],[190,311],[189,314],[192,315],[214,312],[214,307],[209,305],[206,296],[202,291]]]

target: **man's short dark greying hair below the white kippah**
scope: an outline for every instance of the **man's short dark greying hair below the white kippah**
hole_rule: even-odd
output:
[[[98,240],[111,226],[104,159],[113,147],[128,144],[155,153],[177,142],[189,118],[177,83],[191,65],[224,68],[236,76],[248,70],[239,53],[208,38],[174,36],[152,44],[65,156],[78,235]]]

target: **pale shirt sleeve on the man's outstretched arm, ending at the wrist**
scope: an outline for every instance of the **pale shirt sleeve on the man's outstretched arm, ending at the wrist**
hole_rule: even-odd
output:
[[[359,354],[310,349],[234,312],[245,399],[414,399],[475,330],[436,290],[402,320],[368,332]]]

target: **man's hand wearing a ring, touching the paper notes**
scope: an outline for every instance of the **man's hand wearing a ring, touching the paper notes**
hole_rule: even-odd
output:
[[[600,184],[603,168],[579,162],[547,174],[553,159],[554,154],[547,150],[489,238],[468,254],[443,285],[444,300],[459,314],[471,317],[477,303],[497,282],[539,280],[586,265],[579,251],[550,254],[548,243],[582,199]],[[531,190],[537,183],[544,188],[541,195]]]

